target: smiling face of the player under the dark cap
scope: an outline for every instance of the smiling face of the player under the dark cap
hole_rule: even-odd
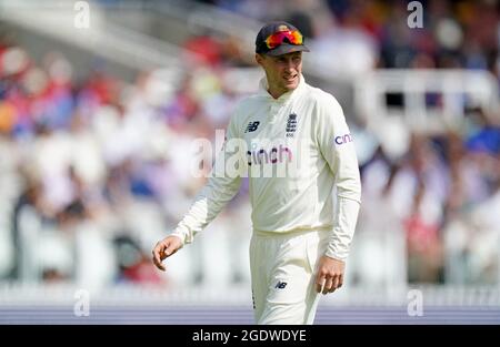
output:
[[[302,52],[291,52],[278,57],[256,54],[256,60],[264,69],[269,92],[274,98],[279,98],[299,85],[302,73]]]

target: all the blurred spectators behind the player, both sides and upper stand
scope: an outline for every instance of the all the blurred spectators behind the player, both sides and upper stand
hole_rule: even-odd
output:
[[[417,30],[400,1],[204,2],[263,21],[287,9],[327,78],[374,68],[498,75],[500,67],[493,1],[422,1]],[[193,140],[212,141],[226,127],[246,93],[237,82],[248,84],[228,78],[228,65],[250,64],[237,47],[193,37],[184,50],[196,57],[189,70],[142,72],[130,84],[106,65],[77,81],[78,67],[62,53],[34,59],[0,41],[0,278],[86,287],[249,280],[246,183],[167,274],[150,263],[154,243],[204,183],[188,174]],[[453,131],[412,134],[393,157],[347,114],[363,183],[352,284],[499,283],[500,114],[471,108],[467,115]]]

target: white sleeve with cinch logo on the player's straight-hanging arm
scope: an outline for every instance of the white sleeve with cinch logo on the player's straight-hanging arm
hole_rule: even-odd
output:
[[[342,108],[328,95],[319,105],[318,143],[336,177],[333,232],[326,255],[344,261],[356,229],[361,203],[361,180],[352,135]]]

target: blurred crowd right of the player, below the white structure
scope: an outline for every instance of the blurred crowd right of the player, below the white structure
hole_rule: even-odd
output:
[[[362,164],[354,257],[369,284],[498,283],[500,126],[480,109],[468,118],[461,131],[412,134],[396,159],[379,145]]]

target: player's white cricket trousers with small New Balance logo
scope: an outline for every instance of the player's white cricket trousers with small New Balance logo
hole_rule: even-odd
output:
[[[327,248],[328,235],[328,231],[253,232],[250,269],[257,324],[313,323],[320,298],[316,266]]]

